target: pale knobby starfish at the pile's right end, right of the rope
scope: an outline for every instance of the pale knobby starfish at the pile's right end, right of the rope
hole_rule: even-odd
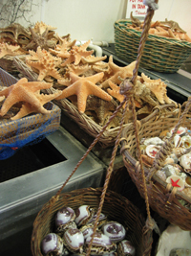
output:
[[[172,101],[167,97],[166,84],[159,80],[151,80],[149,77],[141,73],[141,77],[144,81],[144,84],[155,94],[161,105],[171,104]]]

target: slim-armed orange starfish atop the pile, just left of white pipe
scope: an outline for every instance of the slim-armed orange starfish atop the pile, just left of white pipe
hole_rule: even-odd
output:
[[[66,66],[71,63],[74,63],[74,65],[78,65],[82,57],[86,58],[92,55],[94,53],[94,50],[86,51],[86,48],[89,44],[90,40],[80,46],[73,46],[72,49],[68,52],[70,54],[69,58],[67,58],[61,65]]]

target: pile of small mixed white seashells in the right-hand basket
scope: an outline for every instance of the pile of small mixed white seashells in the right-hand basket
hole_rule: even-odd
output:
[[[140,140],[141,157],[146,167],[152,166],[164,139],[169,138],[173,130],[174,128],[164,130],[159,137]],[[166,158],[163,168],[156,174],[162,180],[177,187],[186,196],[191,197],[191,131],[188,128],[180,127],[173,144],[173,151]]]

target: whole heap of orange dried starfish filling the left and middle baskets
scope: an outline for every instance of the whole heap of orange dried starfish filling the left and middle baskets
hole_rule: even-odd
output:
[[[119,67],[113,62],[113,56],[110,56],[108,62],[106,56],[95,57],[94,51],[88,49],[91,40],[76,45],[76,40],[72,41],[70,35],[55,35],[53,31],[55,29],[42,22],[37,22],[34,28],[28,31],[13,25],[4,30],[0,29],[2,31],[0,36],[3,34],[3,38],[6,38],[0,45],[0,56],[1,53],[3,55],[6,52],[5,49],[14,55],[20,48],[25,51],[29,49],[25,62],[38,75],[37,81],[33,81],[36,82],[33,89],[31,82],[21,80],[0,93],[0,96],[6,97],[6,100],[3,100],[0,115],[5,115],[11,105],[17,102],[24,104],[12,119],[21,118],[36,111],[46,113],[43,105],[48,99],[60,101],[67,98],[77,107],[80,114],[86,114],[98,125],[104,126],[117,105],[124,100],[124,95],[119,93],[120,83],[124,79],[132,78],[136,61]],[[5,36],[6,33],[7,36]],[[9,42],[10,34],[14,44]],[[18,40],[20,35],[22,35],[23,44]],[[25,37],[26,40],[24,40]],[[4,45],[4,48],[2,47],[4,51],[1,50],[2,45]],[[46,86],[49,88],[53,86],[56,93],[50,97],[40,94],[39,91],[46,89]],[[150,114],[156,105],[171,103],[166,95],[166,84],[160,80],[150,80],[141,74],[136,86],[134,99],[139,115]],[[34,90],[34,88],[37,89]],[[27,93],[23,94],[24,89]],[[13,96],[14,93],[16,96]],[[26,95],[31,95],[27,98],[28,100],[24,98]],[[131,105],[128,106],[128,110],[130,107]],[[120,118],[121,111],[117,113],[112,128],[119,125]],[[131,118],[132,113],[128,111],[125,122],[129,122]]]

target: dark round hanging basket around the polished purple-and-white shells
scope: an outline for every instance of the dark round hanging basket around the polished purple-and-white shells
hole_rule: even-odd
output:
[[[87,188],[61,194],[60,198],[51,205],[51,211],[49,211],[50,203],[46,203],[33,222],[32,255],[42,256],[41,241],[48,233],[53,232],[54,215],[60,208],[67,205],[75,210],[80,205],[88,204],[97,209],[101,193],[101,188]],[[150,255],[152,232],[143,234],[145,220],[132,202],[116,192],[107,191],[102,212],[110,220],[118,221],[128,228],[126,239],[136,246],[137,256]]]

